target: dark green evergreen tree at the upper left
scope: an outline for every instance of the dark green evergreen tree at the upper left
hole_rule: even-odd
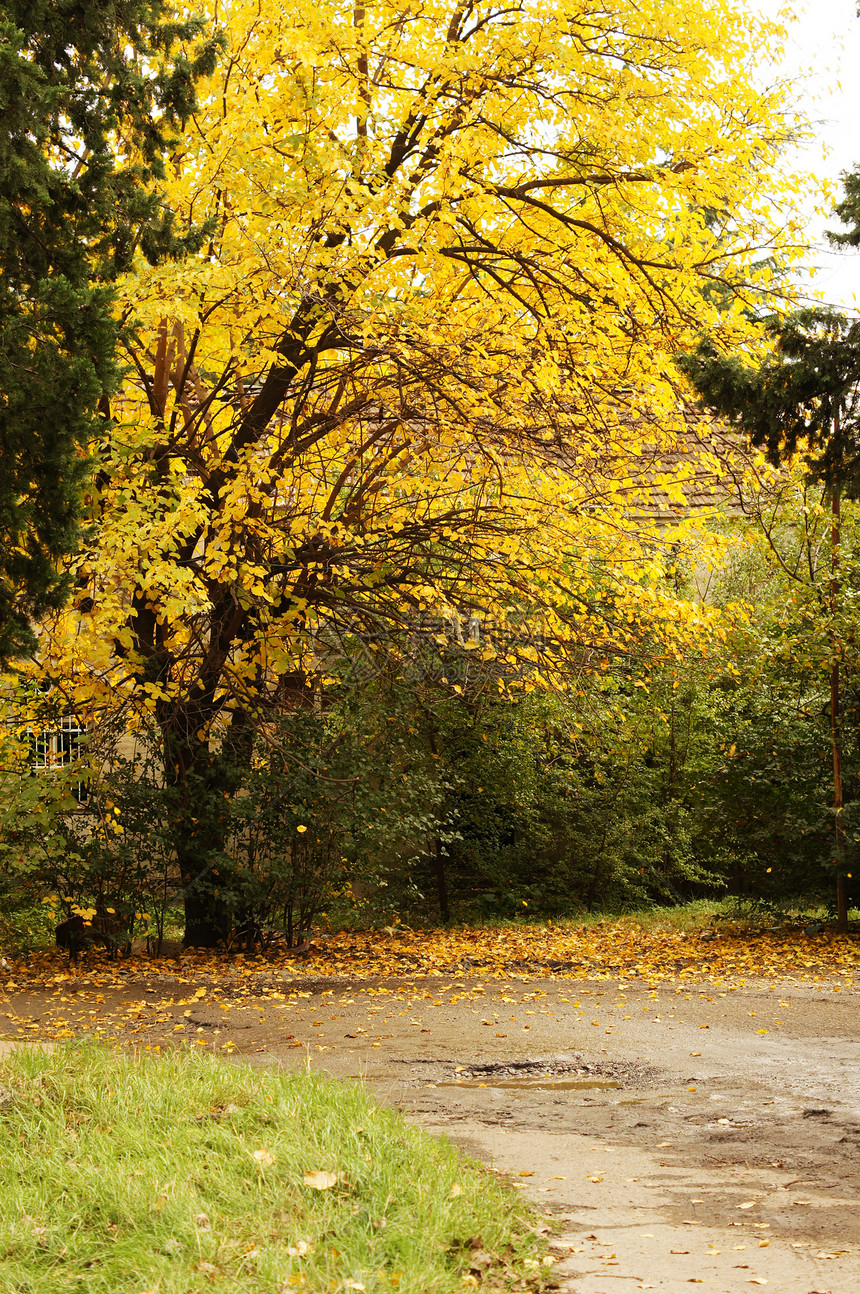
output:
[[[221,39],[163,0],[0,3],[0,661],[32,648],[76,542],[115,382],[111,282],[199,242],[159,197]]]

